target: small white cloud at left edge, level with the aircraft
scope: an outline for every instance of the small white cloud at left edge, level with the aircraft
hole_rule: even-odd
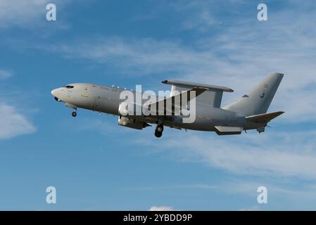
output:
[[[0,139],[11,139],[36,131],[34,125],[11,105],[0,103],[0,115]]]

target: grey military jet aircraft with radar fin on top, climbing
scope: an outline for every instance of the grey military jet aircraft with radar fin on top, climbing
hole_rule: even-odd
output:
[[[164,126],[185,130],[215,131],[218,135],[241,134],[241,131],[246,132],[249,129],[256,129],[261,133],[265,131],[268,122],[284,113],[267,113],[283,76],[281,73],[272,73],[248,94],[222,108],[223,92],[233,92],[232,89],[175,80],[162,82],[171,85],[168,97],[131,90],[130,92],[136,97],[121,98],[126,89],[85,83],[68,84],[54,89],[51,94],[56,101],[63,102],[73,109],[72,117],[76,117],[77,108],[84,108],[117,115],[118,124],[124,127],[144,129],[151,126],[150,124],[156,124],[156,137],[162,136]],[[142,97],[137,102],[136,98],[139,94]],[[151,101],[148,101],[148,97]],[[180,101],[176,101],[177,99]],[[194,120],[184,122],[188,116],[184,115],[182,110],[184,108],[190,110],[192,102],[194,102]],[[146,113],[152,108],[155,108],[156,113]],[[135,115],[134,110],[138,114]]]

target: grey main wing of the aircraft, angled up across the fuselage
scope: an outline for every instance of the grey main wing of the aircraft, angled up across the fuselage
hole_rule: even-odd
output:
[[[187,101],[186,103],[189,103],[189,101],[191,101],[192,99],[196,98],[197,96],[201,95],[204,91],[207,91],[207,88],[202,88],[202,87],[194,87],[193,89],[190,89],[188,91],[183,91],[182,93],[176,95],[176,96],[170,96],[169,98],[165,98],[163,100],[160,101],[156,101],[154,103],[150,103],[148,105],[146,105],[146,107],[148,108],[156,108],[158,106],[158,110],[161,110],[161,108],[163,107],[164,112],[166,112],[166,110],[170,109],[170,110],[175,110],[175,108],[178,108],[178,110],[181,108],[182,105],[182,98],[187,97]],[[195,91],[195,96],[191,94],[191,91]],[[177,101],[175,101],[177,100]],[[169,106],[169,108],[168,108]],[[161,108],[160,108],[161,107]]]

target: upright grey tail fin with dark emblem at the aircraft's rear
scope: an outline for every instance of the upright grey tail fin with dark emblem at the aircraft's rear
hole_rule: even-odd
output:
[[[241,115],[258,115],[267,113],[272,98],[284,75],[274,72],[265,78],[254,89],[242,96],[238,101],[226,105],[224,109],[231,110]]]

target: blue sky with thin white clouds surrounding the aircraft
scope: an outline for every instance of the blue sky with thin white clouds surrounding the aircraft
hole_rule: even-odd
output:
[[[46,4],[57,21],[46,21]],[[265,1],[0,1],[0,210],[316,210],[316,5]],[[73,82],[234,89],[285,76],[264,134],[118,127],[56,103]],[[55,186],[57,203],[46,203]],[[257,203],[266,186],[268,203]]]

